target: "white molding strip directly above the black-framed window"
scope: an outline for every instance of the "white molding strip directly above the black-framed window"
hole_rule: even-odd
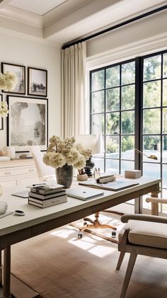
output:
[[[147,55],[151,52],[167,49],[167,33],[156,35],[153,38],[146,38],[129,45],[117,47],[108,52],[88,57],[86,59],[86,68],[91,70],[97,67],[103,67],[108,64],[117,63],[131,59],[137,56]]]

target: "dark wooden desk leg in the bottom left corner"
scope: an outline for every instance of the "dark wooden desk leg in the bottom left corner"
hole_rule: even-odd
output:
[[[11,289],[11,246],[4,249],[4,297],[10,297]]]

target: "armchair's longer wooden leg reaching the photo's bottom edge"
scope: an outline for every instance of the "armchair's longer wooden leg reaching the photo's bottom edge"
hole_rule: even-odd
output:
[[[134,268],[134,263],[136,261],[136,258],[137,258],[136,253],[131,253],[130,256],[129,256],[129,263],[127,265],[127,272],[125,274],[125,280],[124,280],[124,284],[123,284],[122,291],[121,291],[121,294],[120,294],[120,298],[125,297],[125,294],[127,292],[127,287],[129,285],[129,280],[130,280],[130,277],[132,275],[132,271],[133,271],[133,268]]]

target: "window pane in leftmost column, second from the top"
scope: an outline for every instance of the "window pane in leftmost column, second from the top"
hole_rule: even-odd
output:
[[[91,113],[104,112],[104,91],[91,94]]]

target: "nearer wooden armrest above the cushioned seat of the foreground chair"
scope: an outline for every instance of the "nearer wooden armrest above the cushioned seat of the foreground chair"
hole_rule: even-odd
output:
[[[159,217],[156,215],[125,214],[121,217],[122,222],[128,222],[129,219],[142,220],[144,222],[161,222],[161,224],[167,224],[167,217]]]

